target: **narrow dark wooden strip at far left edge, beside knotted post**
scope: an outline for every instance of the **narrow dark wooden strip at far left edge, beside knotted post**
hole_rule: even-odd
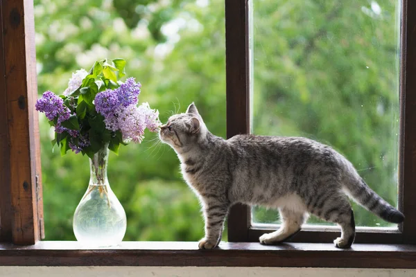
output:
[[[0,23],[3,21],[0,5]],[[0,25],[1,26],[1,25]],[[10,160],[6,105],[3,32],[0,32],[0,242],[12,241],[12,204],[10,199]]]

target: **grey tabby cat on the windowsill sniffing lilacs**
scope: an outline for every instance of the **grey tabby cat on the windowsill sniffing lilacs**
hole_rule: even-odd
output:
[[[205,218],[200,249],[218,246],[229,207],[236,203],[279,209],[280,229],[261,235],[261,244],[287,240],[313,214],[340,226],[336,247],[351,247],[355,223],[348,196],[383,220],[404,221],[352,163],[311,139],[240,134],[225,140],[209,132],[194,103],[162,125],[159,139],[175,150],[185,181],[200,199]]]

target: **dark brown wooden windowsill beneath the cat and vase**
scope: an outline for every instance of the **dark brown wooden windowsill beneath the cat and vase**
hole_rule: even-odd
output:
[[[416,268],[416,245],[222,242],[198,250],[197,242],[122,242],[83,249],[78,242],[42,241],[19,247],[0,243],[0,266],[354,267]]]

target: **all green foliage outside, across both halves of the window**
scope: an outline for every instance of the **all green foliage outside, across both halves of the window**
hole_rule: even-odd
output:
[[[332,145],[395,204],[395,2],[378,1],[380,15],[371,14],[371,2],[353,2],[254,1],[253,131]],[[211,132],[225,137],[223,1],[35,0],[35,30],[40,94],[62,93],[71,72],[95,60],[122,57],[127,77],[142,84],[140,102],[159,109],[162,122],[195,101]],[[75,240],[72,216],[87,189],[88,159],[53,152],[43,115],[40,135],[46,240]],[[128,217],[125,240],[202,237],[198,199],[155,134],[110,153],[108,177]],[[355,211],[359,225],[385,225]],[[276,219],[263,209],[254,216]]]

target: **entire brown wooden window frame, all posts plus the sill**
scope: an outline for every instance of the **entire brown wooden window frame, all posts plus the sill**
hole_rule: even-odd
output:
[[[247,206],[232,207],[229,242],[200,251],[196,242],[122,242],[118,247],[82,249],[77,242],[43,238],[42,182],[37,112],[33,0],[0,0],[0,266],[235,266],[367,267],[416,269],[416,3],[403,0],[401,42],[401,141],[399,209],[406,221],[393,235],[371,233],[399,244],[331,243],[263,246],[262,230],[250,227]],[[227,136],[250,131],[248,0],[225,0]],[[406,96],[406,97],[405,97]],[[406,107],[406,109],[405,109]],[[413,127],[415,126],[415,127]],[[404,132],[406,129],[406,132]],[[404,186],[406,184],[406,186]],[[413,220],[413,222],[412,222]],[[309,233],[308,233],[309,232]],[[313,232],[318,232],[314,234]],[[320,242],[326,234],[305,231],[297,238]],[[364,240],[365,233],[358,233]],[[394,240],[390,239],[395,238]],[[311,240],[310,238],[314,238]],[[365,242],[369,242],[365,241]],[[360,241],[358,241],[360,242]]]

